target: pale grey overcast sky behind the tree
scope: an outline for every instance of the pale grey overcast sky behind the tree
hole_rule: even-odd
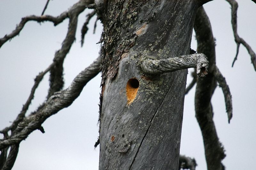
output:
[[[46,0],[0,1],[0,37],[10,33],[21,17],[40,15]],[[59,15],[77,0],[50,1],[45,14]],[[238,33],[256,51],[256,4],[250,0],[238,0]],[[216,63],[226,77],[233,100],[233,118],[228,124],[224,97],[218,87],[212,98],[214,121],[220,141],[227,157],[223,160],[227,170],[252,169],[256,166],[256,77],[250,56],[241,45],[238,60],[232,68],[236,43],[230,24],[230,6],[224,0],[215,0],[204,5],[211,19],[216,38]],[[98,56],[102,26],[98,21],[96,34],[92,34],[95,17],[85,36],[81,48],[80,30],[85,21],[85,11],[79,16],[76,42],[64,62],[64,79],[67,88],[74,77]],[[0,49],[0,129],[10,125],[28,98],[36,75],[47,68],[60,49],[68,28],[66,19],[54,27],[52,23],[28,22],[20,35],[6,42]],[[191,48],[196,49],[194,35]],[[191,72],[190,70],[189,72]],[[36,90],[29,112],[45,100],[48,90],[47,74]],[[81,95],[68,108],[47,119],[45,133],[34,131],[26,141],[20,143],[20,150],[14,170],[53,169],[98,169],[99,147],[94,150],[98,137],[98,103],[100,74],[90,81]],[[191,76],[188,75],[188,83]],[[197,170],[206,169],[203,139],[195,118],[193,88],[185,97],[180,153],[194,157]],[[2,136],[1,136],[2,137]]]

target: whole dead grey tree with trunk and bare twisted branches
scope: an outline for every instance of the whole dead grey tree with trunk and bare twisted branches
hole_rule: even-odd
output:
[[[204,139],[207,167],[224,169],[221,160],[225,153],[212,120],[211,97],[217,82],[224,93],[228,121],[232,118],[232,101],[225,78],[215,65],[211,24],[202,7],[208,1],[80,0],[68,11],[53,17],[43,15],[48,0],[41,16],[22,18],[12,33],[0,39],[0,47],[31,20],[58,25],[68,18],[68,33],[52,64],[36,76],[31,94],[16,120],[0,131],[4,134],[0,140],[0,168],[11,169],[20,142],[36,129],[44,133],[42,123],[72,104],[85,84],[101,71],[100,136],[95,144],[95,147],[100,144],[99,169],[195,169],[194,159],[180,156],[180,138],[184,96],[196,83],[196,118]],[[243,44],[256,70],[255,53],[236,31],[237,3],[227,1],[232,6],[237,53]],[[82,28],[82,45],[87,24],[97,14],[103,23],[100,55],[62,90],[63,61],[75,40],[78,15],[86,8],[94,11],[87,15]],[[193,28],[197,53],[190,49]],[[187,68],[193,67],[196,68],[194,80],[185,89]],[[35,112],[25,116],[47,72],[51,73],[47,99]]]

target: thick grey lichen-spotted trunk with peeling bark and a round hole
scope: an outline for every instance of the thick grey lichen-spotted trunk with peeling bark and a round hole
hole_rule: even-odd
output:
[[[102,41],[99,169],[178,169],[187,69],[143,75],[145,58],[189,54],[198,4],[109,0]]]

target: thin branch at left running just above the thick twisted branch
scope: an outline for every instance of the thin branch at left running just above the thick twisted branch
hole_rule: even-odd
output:
[[[7,133],[9,130],[14,130],[17,125],[20,123],[20,121],[23,120],[23,118],[25,117],[25,114],[28,110],[29,105],[31,104],[31,101],[34,98],[34,94],[35,91],[39,85],[39,83],[42,81],[42,79],[44,78],[44,75],[50,71],[50,69],[54,66],[55,63],[52,63],[48,68],[46,68],[43,72],[39,73],[36,78],[35,78],[35,83],[31,89],[30,95],[28,97],[28,100],[26,101],[26,103],[23,105],[20,114],[18,114],[17,118],[12,122],[12,125],[4,128],[3,130],[0,131],[0,133]]]

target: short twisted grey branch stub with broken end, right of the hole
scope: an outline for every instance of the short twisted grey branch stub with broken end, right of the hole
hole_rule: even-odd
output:
[[[147,58],[140,64],[144,74],[161,74],[193,67],[196,67],[198,77],[207,75],[207,57],[204,54],[191,54],[161,60]]]

